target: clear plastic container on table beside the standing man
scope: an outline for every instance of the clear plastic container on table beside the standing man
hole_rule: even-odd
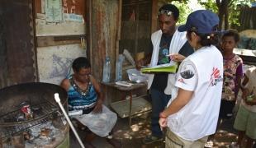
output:
[[[141,73],[140,71],[138,71],[135,68],[128,69],[126,72],[128,74],[128,77],[129,77],[130,81],[134,81],[136,83],[148,81],[148,77],[145,76],[145,74]]]

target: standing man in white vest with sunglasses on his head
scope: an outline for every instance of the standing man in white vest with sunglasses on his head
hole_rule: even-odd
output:
[[[151,35],[152,53],[136,62],[139,69],[149,62],[150,66],[171,62],[170,59],[180,62],[193,53],[192,47],[187,43],[186,33],[177,30],[178,8],[172,4],[164,5],[160,7],[158,16],[160,30]],[[168,57],[170,54],[173,55],[172,58]],[[145,137],[143,140],[145,144],[163,140],[163,132],[159,127],[159,113],[164,110],[171,99],[175,75],[163,72],[150,73],[148,76],[148,89],[150,89],[152,98],[152,134]]]

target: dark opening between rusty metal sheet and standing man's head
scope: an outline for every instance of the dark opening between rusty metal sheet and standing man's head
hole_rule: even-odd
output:
[[[151,52],[151,0],[123,0],[119,53],[127,49],[133,58],[136,53]]]

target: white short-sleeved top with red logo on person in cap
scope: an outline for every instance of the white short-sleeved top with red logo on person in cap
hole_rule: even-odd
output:
[[[168,127],[188,141],[216,132],[223,84],[223,58],[215,46],[202,47],[180,65],[175,86],[193,91],[192,99],[168,117]]]

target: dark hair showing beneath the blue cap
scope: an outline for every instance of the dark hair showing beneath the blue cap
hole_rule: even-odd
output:
[[[217,28],[217,25],[214,28]],[[214,30],[216,30],[216,29],[214,29]],[[210,34],[201,34],[201,33],[197,33],[197,31],[188,30],[187,37],[190,40],[191,40],[192,32],[194,32],[201,38],[201,40],[200,40],[201,46],[211,46],[211,44],[217,45],[220,42],[220,35],[218,34],[218,32],[212,32]]]

